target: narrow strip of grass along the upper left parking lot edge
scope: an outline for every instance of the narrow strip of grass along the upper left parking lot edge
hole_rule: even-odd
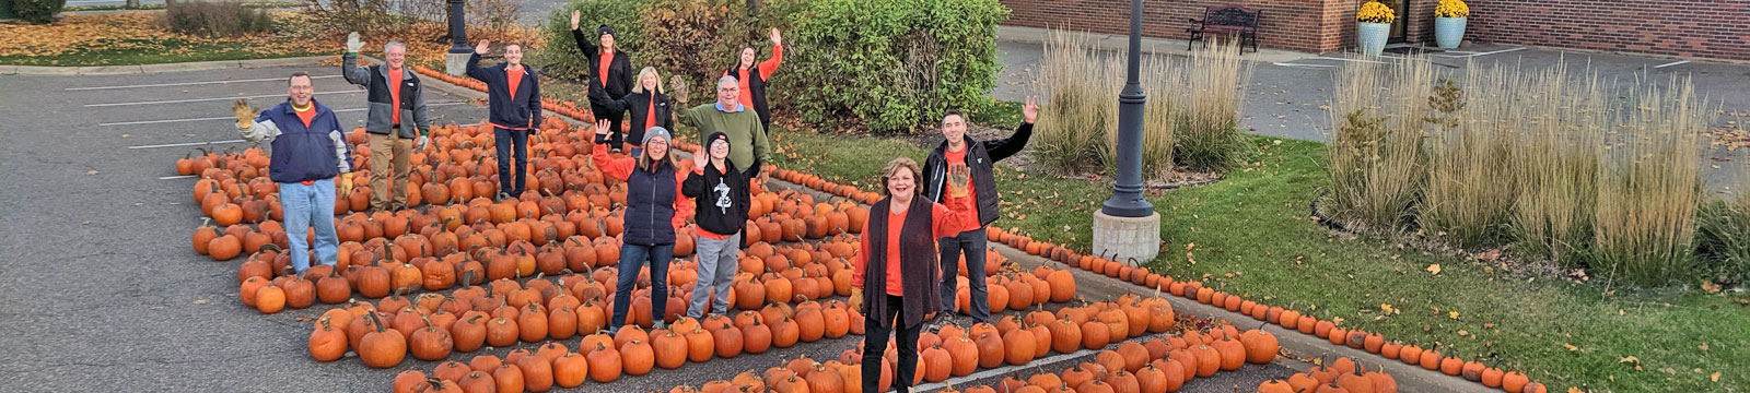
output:
[[[212,42],[212,40],[117,40],[122,45],[88,45],[56,56],[0,56],[0,65],[28,66],[119,66],[119,65],[161,65],[219,59],[266,59],[332,54],[306,51],[259,52],[248,51],[250,42]]]

